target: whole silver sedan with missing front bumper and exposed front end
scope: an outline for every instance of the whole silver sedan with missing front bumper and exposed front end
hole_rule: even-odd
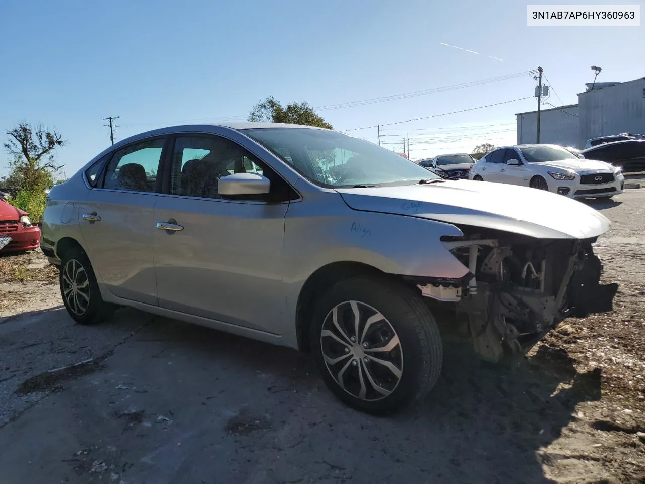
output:
[[[310,351],[339,399],[383,414],[435,385],[442,332],[499,361],[610,310],[591,247],[609,228],[339,132],[243,123],[110,146],[52,188],[41,246],[77,323],[129,306]]]

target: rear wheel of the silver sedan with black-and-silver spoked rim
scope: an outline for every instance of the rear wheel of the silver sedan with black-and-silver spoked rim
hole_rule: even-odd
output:
[[[81,248],[75,247],[63,254],[59,287],[68,314],[79,325],[101,323],[116,309],[115,305],[103,301],[90,260]]]

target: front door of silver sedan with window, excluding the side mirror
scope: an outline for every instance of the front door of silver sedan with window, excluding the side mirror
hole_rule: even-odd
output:
[[[288,203],[259,196],[225,199],[217,181],[237,172],[284,182],[243,146],[206,134],[178,136],[169,193],[155,205],[159,305],[275,333],[284,316],[283,237]]]

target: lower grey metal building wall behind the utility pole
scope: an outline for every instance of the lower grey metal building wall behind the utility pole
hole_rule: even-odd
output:
[[[579,139],[578,106],[549,109],[540,114],[540,143],[576,146]],[[517,144],[535,143],[537,113],[517,115]]]

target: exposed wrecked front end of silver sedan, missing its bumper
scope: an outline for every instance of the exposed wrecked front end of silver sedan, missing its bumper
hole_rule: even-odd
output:
[[[474,229],[463,233],[443,243],[469,268],[468,276],[416,285],[423,296],[453,303],[481,358],[499,361],[523,354],[565,318],[612,310],[618,285],[600,284],[595,238],[543,240]]]

